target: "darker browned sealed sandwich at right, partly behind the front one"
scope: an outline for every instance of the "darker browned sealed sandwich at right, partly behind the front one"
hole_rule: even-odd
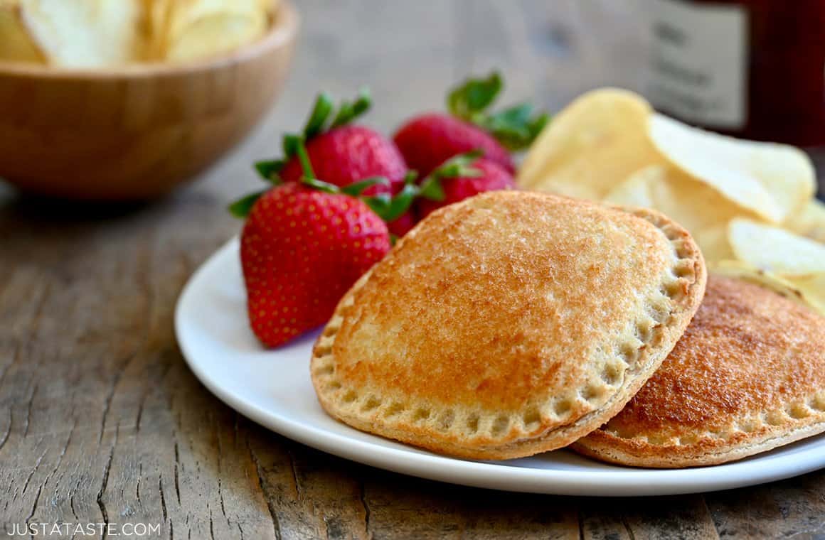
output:
[[[825,431],[825,317],[711,275],[662,367],[573,448],[637,467],[715,465]]]

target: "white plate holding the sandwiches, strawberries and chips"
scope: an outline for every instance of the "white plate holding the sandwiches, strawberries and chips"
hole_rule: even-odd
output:
[[[825,437],[717,467],[615,467],[559,450],[507,462],[445,458],[329,418],[309,380],[317,332],[263,350],[247,326],[238,241],[217,251],[178,300],[177,339],[197,378],[244,416],[324,452],[416,477],[558,495],[675,495],[751,486],[825,467]]]

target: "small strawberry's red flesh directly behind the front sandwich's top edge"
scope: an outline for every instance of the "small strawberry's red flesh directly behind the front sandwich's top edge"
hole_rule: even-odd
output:
[[[460,159],[466,159],[466,157],[450,160],[443,167],[433,171],[431,176],[425,180],[425,183],[440,183],[443,193],[436,195],[436,199],[440,200],[420,199],[417,201],[418,215],[421,218],[426,218],[428,214],[442,206],[457,203],[484,191],[512,190],[516,187],[512,175],[496,162],[480,157],[470,161],[469,165],[465,165],[459,162]],[[456,164],[458,167],[455,167]],[[422,185],[422,189],[427,190],[427,185]]]

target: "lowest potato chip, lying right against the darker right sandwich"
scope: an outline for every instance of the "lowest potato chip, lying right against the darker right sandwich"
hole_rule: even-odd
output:
[[[823,313],[825,315],[825,289],[815,290],[816,279],[822,279],[818,283],[819,287],[825,288],[825,276],[813,276],[813,278],[787,279],[779,275],[759,270],[742,261],[721,261],[715,265],[710,272],[715,275],[724,275],[731,278],[743,279],[757,285],[771,289],[780,293],[785,298],[790,298],[795,303],[802,304],[808,308]],[[811,281],[808,282],[808,279]],[[800,286],[801,283],[801,286]],[[812,286],[812,284],[814,286]]]

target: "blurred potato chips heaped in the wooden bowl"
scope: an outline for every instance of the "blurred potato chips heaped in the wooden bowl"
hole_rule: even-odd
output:
[[[0,60],[186,62],[259,39],[277,0],[0,0]]]

